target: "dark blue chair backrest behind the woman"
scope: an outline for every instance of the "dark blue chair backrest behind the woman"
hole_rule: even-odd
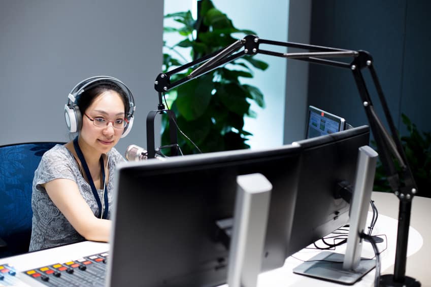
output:
[[[28,252],[35,170],[47,150],[63,143],[28,142],[0,147],[0,258]]]

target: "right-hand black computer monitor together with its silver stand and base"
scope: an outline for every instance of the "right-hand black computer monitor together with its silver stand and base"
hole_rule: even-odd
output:
[[[376,265],[375,260],[360,257],[378,156],[367,146],[368,127],[363,133],[361,129],[300,143],[304,149],[288,254],[347,222],[350,229],[345,255],[320,252],[295,267],[294,273],[353,284]]]

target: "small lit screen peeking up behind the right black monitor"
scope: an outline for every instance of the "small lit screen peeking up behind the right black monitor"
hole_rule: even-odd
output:
[[[306,138],[335,133],[345,129],[345,120],[315,106],[308,107],[308,124]]]

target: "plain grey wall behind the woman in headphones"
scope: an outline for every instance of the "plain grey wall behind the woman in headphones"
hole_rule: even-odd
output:
[[[110,75],[128,85],[137,105],[117,149],[145,147],[146,116],[158,102],[162,22],[159,0],[0,1],[0,145],[69,140],[69,91],[84,78]]]

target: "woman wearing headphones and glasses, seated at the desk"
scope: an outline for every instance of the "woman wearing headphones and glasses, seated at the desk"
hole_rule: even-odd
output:
[[[47,151],[35,171],[29,250],[82,240],[108,241],[115,165],[114,148],[130,131],[134,101],[111,77],[80,82],[69,95],[65,117],[78,136]]]

